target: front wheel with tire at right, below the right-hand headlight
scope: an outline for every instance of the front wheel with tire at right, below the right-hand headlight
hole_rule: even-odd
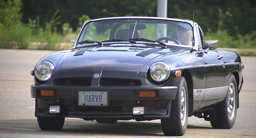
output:
[[[172,100],[170,117],[161,119],[162,130],[165,135],[182,136],[187,129],[188,86],[184,77],[179,77],[177,87],[176,98]],[[181,110],[182,108],[183,110]]]

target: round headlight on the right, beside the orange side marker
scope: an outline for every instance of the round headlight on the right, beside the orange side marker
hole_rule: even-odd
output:
[[[150,76],[156,82],[165,81],[170,76],[170,68],[164,62],[155,62],[150,67]]]

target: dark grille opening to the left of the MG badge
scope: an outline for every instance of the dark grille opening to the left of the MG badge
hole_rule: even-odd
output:
[[[80,78],[58,78],[53,81],[53,85],[69,85],[69,86],[90,86],[90,77]]]

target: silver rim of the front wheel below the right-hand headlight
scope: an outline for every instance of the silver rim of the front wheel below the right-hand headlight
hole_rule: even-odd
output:
[[[186,122],[186,115],[187,115],[187,100],[186,100],[186,89],[182,87],[181,89],[181,99],[180,99],[180,120],[181,125],[184,126]]]

